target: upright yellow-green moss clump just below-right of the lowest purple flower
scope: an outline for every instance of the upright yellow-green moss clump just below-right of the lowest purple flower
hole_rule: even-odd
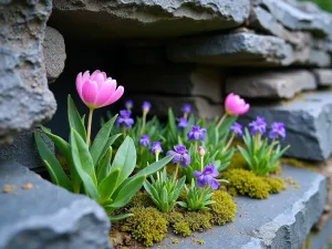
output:
[[[214,191],[211,200],[216,201],[210,205],[210,212],[212,215],[211,222],[222,226],[226,222],[230,222],[235,219],[236,204],[231,196],[222,190]]]

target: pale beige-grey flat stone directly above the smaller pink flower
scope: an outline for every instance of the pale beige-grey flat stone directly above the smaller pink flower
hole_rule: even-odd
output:
[[[315,77],[305,70],[267,71],[229,76],[226,92],[245,97],[291,98],[317,87]]]

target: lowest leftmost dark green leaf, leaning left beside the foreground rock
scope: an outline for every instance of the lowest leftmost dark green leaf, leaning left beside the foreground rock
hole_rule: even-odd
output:
[[[49,149],[45,142],[41,138],[41,136],[35,132],[34,133],[34,139],[37,144],[37,148],[39,152],[39,155],[43,159],[43,162],[46,162],[46,168],[51,168],[52,170],[49,170],[51,177],[54,177],[54,184],[72,191],[72,185],[68,176],[65,175],[62,166],[58,162],[54,154]]]

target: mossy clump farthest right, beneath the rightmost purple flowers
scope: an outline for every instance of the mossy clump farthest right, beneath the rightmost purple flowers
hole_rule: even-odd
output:
[[[229,180],[228,187],[231,191],[247,195],[251,198],[266,199],[269,197],[269,185],[253,173],[241,168],[229,169],[221,174],[222,178]]]

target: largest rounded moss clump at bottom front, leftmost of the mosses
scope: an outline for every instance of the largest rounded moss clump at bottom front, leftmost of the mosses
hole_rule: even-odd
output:
[[[133,238],[151,247],[160,241],[167,232],[167,220],[153,207],[134,207],[129,210],[134,214],[122,226],[122,231],[128,231]]]

